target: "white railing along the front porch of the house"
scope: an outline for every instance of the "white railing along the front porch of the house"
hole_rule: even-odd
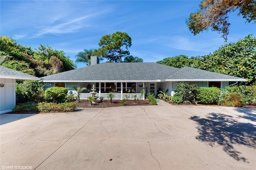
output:
[[[100,99],[100,97],[103,97],[103,99],[109,99],[109,94],[110,93],[96,93],[96,96],[98,97],[98,99]],[[136,95],[136,99],[139,100],[144,100],[144,94],[141,93],[113,93],[113,100],[121,100],[121,99],[128,99],[128,100],[134,100],[134,95]],[[92,96],[91,93],[80,93],[80,99],[84,100],[84,99],[88,99],[88,97]]]

